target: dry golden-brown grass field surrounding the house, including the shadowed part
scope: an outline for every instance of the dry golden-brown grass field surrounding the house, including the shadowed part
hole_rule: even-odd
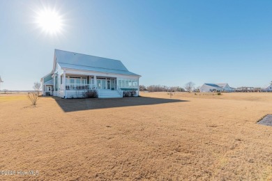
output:
[[[0,95],[0,180],[272,180],[272,93]]]

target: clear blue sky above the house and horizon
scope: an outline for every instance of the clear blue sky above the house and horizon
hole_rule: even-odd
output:
[[[63,31],[44,33],[43,8]],[[193,81],[265,86],[272,80],[272,1],[0,1],[1,89],[31,90],[54,49],[118,59],[140,84]]]

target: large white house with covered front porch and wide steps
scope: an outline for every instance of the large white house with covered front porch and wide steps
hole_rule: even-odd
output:
[[[123,97],[123,91],[139,95],[139,74],[121,61],[55,49],[53,70],[41,79],[43,95],[81,97],[96,90],[98,97]]]

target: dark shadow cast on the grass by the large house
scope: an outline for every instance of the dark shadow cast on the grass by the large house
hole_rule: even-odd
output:
[[[109,99],[61,99],[53,97],[65,112],[105,109],[114,107],[133,107],[141,105],[165,104],[173,102],[188,102],[186,100],[163,99],[154,97],[123,97]]]

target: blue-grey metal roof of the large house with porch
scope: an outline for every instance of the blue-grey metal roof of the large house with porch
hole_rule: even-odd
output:
[[[138,74],[129,72],[121,61],[109,58],[78,54],[59,49],[55,49],[55,57],[56,62],[59,63],[61,68],[139,76]]]

